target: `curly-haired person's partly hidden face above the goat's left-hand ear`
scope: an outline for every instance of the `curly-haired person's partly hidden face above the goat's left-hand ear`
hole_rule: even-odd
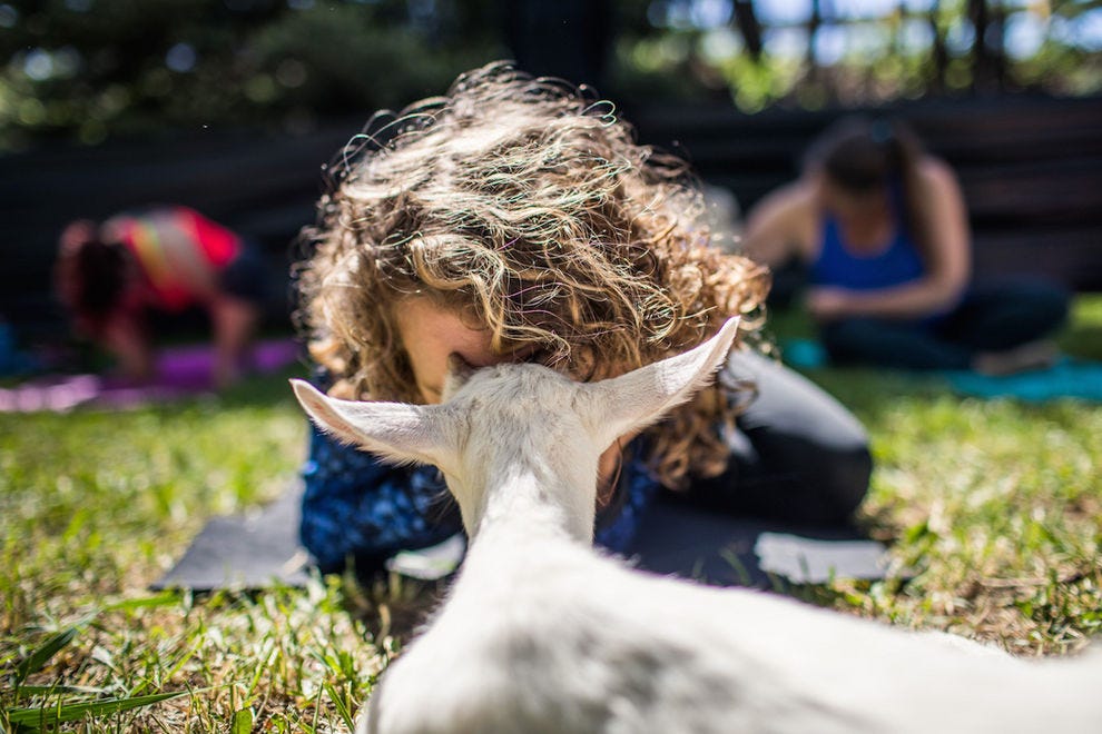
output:
[[[427,298],[401,301],[394,309],[394,320],[410,357],[417,389],[430,404],[441,401],[451,355],[459,355],[473,367],[489,367],[504,361],[520,361],[531,351],[494,354],[490,348],[489,329],[473,328],[468,319]]]

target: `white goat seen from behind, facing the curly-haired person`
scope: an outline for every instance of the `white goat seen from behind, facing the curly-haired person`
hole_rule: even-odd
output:
[[[453,376],[439,406],[336,400],[295,381],[337,437],[440,467],[471,538],[357,731],[1102,731],[1096,655],[970,654],[947,635],[659,577],[592,549],[602,449],[707,383],[736,328],[599,383],[537,365]]]

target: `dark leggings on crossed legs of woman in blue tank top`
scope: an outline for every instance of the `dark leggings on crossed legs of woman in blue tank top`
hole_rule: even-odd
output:
[[[926,321],[848,318],[823,327],[834,361],[901,369],[970,369],[976,355],[1003,351],[1055,331],[1069,297],[1040,280],[1003,281],[971,289],[947,315]]]

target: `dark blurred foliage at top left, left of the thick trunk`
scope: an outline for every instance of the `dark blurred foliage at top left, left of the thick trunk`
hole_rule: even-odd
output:
[[[308,129],[401,106],[508,56],[495,12],[492,0],[0,4],[0,142]]]

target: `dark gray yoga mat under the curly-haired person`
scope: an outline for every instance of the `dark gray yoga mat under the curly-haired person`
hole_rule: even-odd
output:
[[[195,537],[179,562],[154,588],[258,589],[306,583],[309,557],[298,545],[302,488],[249,515],[215,517]],[[391,566],[419,577],[439,577],[450,567],[441,556],[462,550],[451,543],[402,554]],[[645,516],[639,540],[627,554],[633,565],[724,586],[769,587],[821,583],[833,576],[879,578],[884,548],[853,530],[808,528],[729,517],[659,500]]]

